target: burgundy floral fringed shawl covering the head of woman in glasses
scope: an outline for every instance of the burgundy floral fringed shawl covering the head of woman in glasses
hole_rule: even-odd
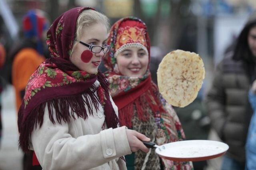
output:
[[[34,126],[42,126],[46,106],[50,120],[55,124],[53,109],[57,121],[62,123],[75,119],[75,114],[86,119],[88,114],[92,114],[93,107],[98,109],[98,105],[102,104],[108,128],[118,127],[118,117],[110,101],[106,78],[99,71],[91,75],[79,70],[69,59],[75,39],[76,20],[87,9],[93,8],[68,10],[53,22],[47,32],[50,59],[42,63],[30,77],[18,112],[19,146],[24,152],[30,149],[29,138]],[[98,88],[94,86],[96,80],[100,82]],[[94,92],[97,92],[99,98]]]

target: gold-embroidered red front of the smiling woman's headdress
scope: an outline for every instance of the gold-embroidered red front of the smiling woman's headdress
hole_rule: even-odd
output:
[[[120,48],[123,44],[133,42],[138,42],[147,47],[145,32],[143,28],[127,26],[125,28],[120,28],[120,32],[121,33],[118,32],[118,36],[116,37],[116,50],[118,50],[118,48]]]

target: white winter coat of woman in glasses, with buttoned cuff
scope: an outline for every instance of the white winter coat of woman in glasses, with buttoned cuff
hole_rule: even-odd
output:
[[[94,84],[98,86],[99,82]],[[110,100],[118,114],[111,97]],[[126,127],[107,129],[101,104],[98,112],[93,108],[86,120],[78,116],[69,123],[59,124],[56,116],[54,120],[56,124],[50,121],[46,104],[43,124],[31,134],[30,148],[43,170],[126,170],[125,162],[119,158],[132,153]]]

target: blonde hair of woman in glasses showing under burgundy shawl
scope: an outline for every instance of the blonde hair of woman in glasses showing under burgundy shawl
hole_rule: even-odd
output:
[[[104,14],[95,10],[84,10],[83,12],[81,12],[81,14],[78,16],[78,19],[76,21],[75,39],[78,39],[78,40],[80,39],[86,27],[92,26],[97,23],[104,24],[107,28],[107,32],[110,29],[109,18]],[[70,55],[73,54],[74,48],[76,47],[77,44],[78,42],[75,41]]]

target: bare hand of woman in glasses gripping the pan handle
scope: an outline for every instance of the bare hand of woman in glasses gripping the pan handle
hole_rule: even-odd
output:
[[[130,129],[126,129],[126,134],[132,152],[137,152],[138,150],[142,150],[143,152],[149,151],[149,149],[141,142],[141,140],[149,142],[150,138],[146,137],[144,134]]]

